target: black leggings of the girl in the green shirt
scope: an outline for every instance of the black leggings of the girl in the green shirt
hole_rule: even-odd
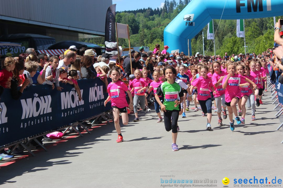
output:
[[[171,122],[172,117],[172,122]],[[164,112],[164,125],[166,131],[171,131],[177,133],[177,121],[179,118],[179,110],[166,110]]]

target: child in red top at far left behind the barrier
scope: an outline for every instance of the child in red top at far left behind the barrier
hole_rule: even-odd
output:
[[[0,85],[2,87],[10,88],[13,77],[12,70],[14,68],[15,59],[13,57],[6,57],[2,63],[2,70],[0,70]]]

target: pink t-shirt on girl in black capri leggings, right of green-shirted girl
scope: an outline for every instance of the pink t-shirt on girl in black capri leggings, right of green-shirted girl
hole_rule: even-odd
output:
[[[213,87],[211,78],[207,77],[204,79],[202,76],[192,81],[192,85],[198,88],[198,100],[205,101],[211,98],[209,93],[209,87]]]

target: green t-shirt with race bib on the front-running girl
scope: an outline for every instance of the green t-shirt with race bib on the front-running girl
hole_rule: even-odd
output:
[[[163,82],[156,91],[158,96],[162,96],[164,98],[163,104],[165,105],[166,110],[180,110],[179,106],[174,107],[175,100],[180,100],[180,97],[183,97],[183,91],[179,84],[174,82],[173,84]]]

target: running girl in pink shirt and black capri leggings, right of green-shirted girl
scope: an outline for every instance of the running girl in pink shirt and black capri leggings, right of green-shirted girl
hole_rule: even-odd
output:
[[[214,92],[213,84],[211,78],[207,76],[207,72],[209,71],[209,68],[207,66],[203,66],[200,69],[200,77],[198,79],[195,79],[192,81],[192,86],[190,88],[190,92],[193,91],[194,87],[197,87],[198,89],[198,102],[200,103],[201,110],[203,111],[204,114],[207,113],[207,125],[206,129],[210,130],[211,129],[211,106],[212,106],[212,101],[211,101],[211,96],[209,92],[209,88]]]

